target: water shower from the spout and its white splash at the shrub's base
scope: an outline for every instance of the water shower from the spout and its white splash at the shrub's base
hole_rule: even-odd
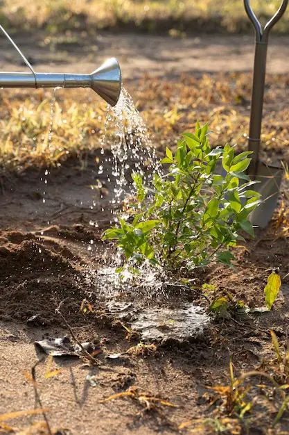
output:
[[[102,149],[98,165],[98,175],[105,177],[104,168],[110,166],[107,174],[107,183],[113,191],[110,199],[111,211],[114,219],[111,224],[118,221],[120,208],[125,197],[134,196],[131,173],[142,174],[148,185],[155,173],[161,174],[161,165],[157,160],[155,147],[152,147],[150,135],[145,122],[134,106],[131,95],[125,89],[121,89],[121,95],[116,106],[107,106],[106,120]],[[110,149],[112,158],[105,153]],[[106,164],[106,165],[105,165]],[[121,217],[125,218],[122,212]],[[90,223],[90,222],[89,222]],[[95,222],[91,222],[95,225]],[[123,265],[123,256],[120,249],[116,250],[113,258],[107,253],[105,267],[98,271],[100,277],[100,293],[113,296],[121,289],[131,292],[133,289],[142,288],[143,293],[161,293],[164,288],[165,274],[161,268],[152,268],[149,263],[143,263],[136,276],[130,272],[132,267],[128,265],[121,274],[115,272],[116,267]]]

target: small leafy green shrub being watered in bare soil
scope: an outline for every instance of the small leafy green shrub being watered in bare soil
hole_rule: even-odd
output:
[[[213,258],[230,265],[229,248],[242,239],[240,231],[254,236],[248,215],[261,202],[245,174],[249,154],[235,156],[229,145],[211,149],[207,124],[197,123],[195,134],[182,134],[175,154],[166,148],[166,174],[155,174],[151,183],[132,174],[137,204],[103,238],[115,239],[134,265],[147,259],[169,270],[192,269]],[[218,161],[226,174],[216,174]]]

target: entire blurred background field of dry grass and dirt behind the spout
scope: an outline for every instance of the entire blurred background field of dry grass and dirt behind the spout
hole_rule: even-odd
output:
[[[279,4],[252,0],[262,22]],[[91,72],[103,58],[119,58],[124,85],[160,151],[175,146],[196,120],[209,122],[213,145],[246,146],[254,35],[243,0],[0,0],[0,22],[37,71]],[[289,159],[288,29],[289,10],[269,49],[274,58],[262,131],[267,161]],[[25,70],[2,35],[0,46],[0,69]],[[1,90],[2,174],[56,165],[71,155],[81,160],[100,147],[105,103],[90,90],[60,90],[51,117],[52,98],[52,90]]]

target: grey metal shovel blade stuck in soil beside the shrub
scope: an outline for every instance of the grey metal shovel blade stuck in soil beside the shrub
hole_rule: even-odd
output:
[[[283,167],[266,165],[259,161],[254,177],[259,183],[254,185],[254,190],[261,193],[263,202],[249,215],[249,221],[252,225],[265,228],[270,221],[275,208],[277,208],[283,171]]]

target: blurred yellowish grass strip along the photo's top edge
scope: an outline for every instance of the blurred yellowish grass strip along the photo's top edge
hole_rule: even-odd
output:
[[[239,0],[15,0],[12,3],[3,0],[1,4],[1,23],[29,30],[46,28],[49,33],[139,28],[182,35],[182,32],[198,31],[238,32],[249,26],[243,1]],[[278,7],[278,0],[254,1],[256,13],[263,18],[271,16]],[[286,32],[288,19],[283,19],[277,30]]]

